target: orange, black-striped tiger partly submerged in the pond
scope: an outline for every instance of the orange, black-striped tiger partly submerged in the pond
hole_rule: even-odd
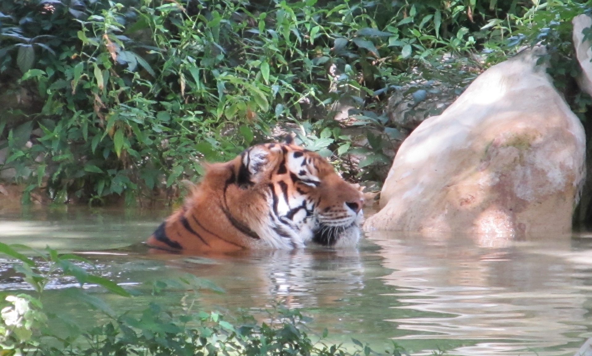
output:
[[[209,164],[185,203],[146,244],[182,253],[353,247],[360,238],[362,193],[317,153],[259,144]]]

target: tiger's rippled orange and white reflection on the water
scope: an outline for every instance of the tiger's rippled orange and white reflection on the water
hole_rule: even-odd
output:
[[[202,293],[204,305],[229,310],[282,302],[289,308],[322,308],[357,295],[364,267],[356,249],[245,251],[213,258],[178,256],[168,262],[214,281],[223,294]]]

